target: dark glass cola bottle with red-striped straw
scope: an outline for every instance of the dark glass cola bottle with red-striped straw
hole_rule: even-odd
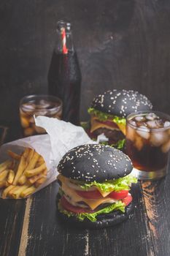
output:
[[[71,23],[58,21],[57,41],[48,72],[48,92],[63,101],[63,120],[80,123],[81,71],[72,42]]]

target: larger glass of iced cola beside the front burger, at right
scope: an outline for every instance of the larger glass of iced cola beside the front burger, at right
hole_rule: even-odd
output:
[[[158,111],[131,113],[126,122],[125,151],[141,180],[166,176],[169,164],[170,116]]]

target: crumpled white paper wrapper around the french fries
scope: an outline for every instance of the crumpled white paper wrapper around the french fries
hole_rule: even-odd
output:
[[[58,175],[56,166],[67,151],[75,146],[96,142],[90,140],[82,127],[77,127],[57,118],[38,116],[35,118],[35,122],[36,126],[46,129],[47,135],[31,136],[4,144],[0,148],[0,162],[9,159],[8,149],[19,154],[25,147],[34,148],[37,153],[44,157],[48,169],[47,181],[36,190],[37,192],[55,181]],[[104,136],[101,136],[101,139],[104,141]]]

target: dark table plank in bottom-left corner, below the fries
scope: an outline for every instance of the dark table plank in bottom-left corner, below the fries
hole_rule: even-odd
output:
[[[0,199],[0,255],[17,256],[26,200]]]

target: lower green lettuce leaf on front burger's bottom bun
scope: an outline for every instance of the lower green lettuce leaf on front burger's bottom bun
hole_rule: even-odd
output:
[[[61,206],[61,203],[58,203],[58,209],[59,211],[61,211],[62,214],[66,214],[67,217],[74,216],[74,217],[77,217],[77,219],[79,219],[80,221],[83,221],[85,218],[88,218],[91,222],[96,222],[97,220],[96,217],[99,214],[109,214],[109,212],[116,211],[116,210],[125,212],[125,204],[122,203],[122,201],[118,200],[117,202],[112,203],[106,208],[96,211],[93,214],[88,214],[88,213],[74,214],[70,211],[64,210],[63,207]]]

